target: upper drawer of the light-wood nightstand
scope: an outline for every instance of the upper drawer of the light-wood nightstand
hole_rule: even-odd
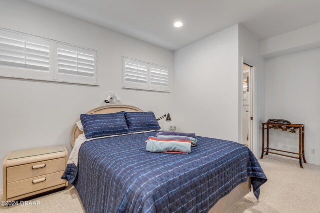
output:
[[[6,182],[11,183],[27,178],[59,172],[65,169],[65,158],[39,161],[6,168]]]

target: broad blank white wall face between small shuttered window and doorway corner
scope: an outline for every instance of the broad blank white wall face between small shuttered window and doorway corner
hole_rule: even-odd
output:
[[[237,24],[174,52],[172,98],[177,131],[237,141]]]

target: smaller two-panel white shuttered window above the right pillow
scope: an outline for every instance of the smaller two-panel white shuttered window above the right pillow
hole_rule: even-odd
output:
[[[169,70],[164,66],[122,57],[122,87],[169,91]]]

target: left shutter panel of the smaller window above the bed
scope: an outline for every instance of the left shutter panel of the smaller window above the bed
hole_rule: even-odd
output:
[[[122,58],[123,87],[147,89],[148,64]]]

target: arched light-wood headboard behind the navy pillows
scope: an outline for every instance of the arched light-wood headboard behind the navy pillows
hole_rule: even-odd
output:
[[[130,106],[130,105],[123,105],[123,104],[112,104],[112,105],[106,105],[106,106],[100,106],[97,108],[94,108],[90,111],[88,111],[85,114],[107,114],[107,113],[114,113],[114,112],[143,112],[141,109]],[[78,119],[76,122],[78,122],[80,119]],[[73,148],[75,139],[82,134],[83,132],[79,130],[79,128],[76,126],[76,122],[73,124],[71,131],[70,131],[70,144]]]

